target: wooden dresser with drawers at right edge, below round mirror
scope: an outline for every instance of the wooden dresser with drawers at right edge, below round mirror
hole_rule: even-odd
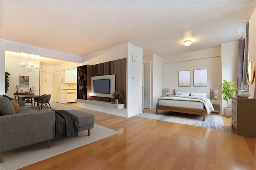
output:
[[[256,99],[232,97],[232,126],[236,134],[256,137]]]

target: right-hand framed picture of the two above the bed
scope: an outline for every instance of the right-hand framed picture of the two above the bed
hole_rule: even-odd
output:
[[[207,86],[207,69],[194,70],[194,86]]]

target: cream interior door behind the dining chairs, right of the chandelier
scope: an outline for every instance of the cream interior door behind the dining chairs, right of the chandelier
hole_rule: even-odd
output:
[[[54,101],[54,73],[41,71],[40,77],[40,95],[51,94],[51,100]]]

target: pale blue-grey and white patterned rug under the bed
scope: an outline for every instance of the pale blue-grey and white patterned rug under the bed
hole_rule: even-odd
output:
[[[226,130],[222,117],[218,115],[206,114],[205,121],[202,121],[202,115],[192,115],[186,113],[176,113],[169,111],[159,111],[156,115],[156,110],[148,113],[143,113],[136,117],[154,119],[158,121],[166,121],[172,123],[180,123],[185,125],[193,125],[198,127],[215,128],[219,130]]]

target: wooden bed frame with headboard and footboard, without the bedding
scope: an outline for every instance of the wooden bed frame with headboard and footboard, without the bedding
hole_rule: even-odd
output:
[[[199,93],[205,93],[204,90],[178,90],[180,92],[199,92]],[[212,98],[212,90],[207,90],[210,91],[210,99]],[[174,95],[176,94],[176,89],[174,89]],[[156,105],[156,115],[158,115],[158,110],[163,110],[163,111],[172,111],[172,112],[179,112],[179,113],[188,113],[188,114],[193,114],[193,115],[202,115],[203,116],[203,121],[205,121],[205,115],[206,115],[206,110],[205,109],[190,109],[190,108],[184,108],[184,107],[171,107],[171,106],[161,106],[161,105]]]

